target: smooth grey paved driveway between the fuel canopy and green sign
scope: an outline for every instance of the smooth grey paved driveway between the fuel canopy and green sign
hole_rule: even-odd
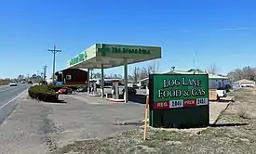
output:
[[[61,140],[115,135],[139,127],[144,118],[144,105],[141,104],[115,103],[81,94],[60,98],[67,104],[50,106],[54,109],[52,121],[65,130]],[[118,125],[124,122],[132,124]]]

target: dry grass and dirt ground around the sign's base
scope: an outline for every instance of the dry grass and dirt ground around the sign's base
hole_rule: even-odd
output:
[[[256,153],[256,89],[239,89],[229,95],[236,102],[222,112],[216,124],[196,133],[150,128],[148,139],[142,141],[140,128],[106,139],[76,141],[54,153]]]

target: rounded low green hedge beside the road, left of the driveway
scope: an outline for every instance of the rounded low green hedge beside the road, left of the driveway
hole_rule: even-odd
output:
[[[47,85],[34,85],[29,88],[29,96],[45,102],[58,101],[59,94],[47,87]]]

